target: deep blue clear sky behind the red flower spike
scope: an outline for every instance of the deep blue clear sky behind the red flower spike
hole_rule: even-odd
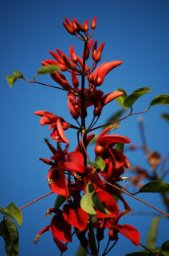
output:
[[[109,73],[100,90],[104,94],[118,87],[132,93],[140,87],[149,86],[152,90],[140,98],[134,105],[134,112],[147,109],[148,103],[158,94],[169,94],[169,2],[167,0],[119,0],[119,1],[8,1],[0,4],[1,28],[1,181],[2,194],[0,206],[6,207],[15,202],[18,207],[48,193],[46,180],[48,166],[38,158],[49,158],[49,150],[43,138],[49,138],[47,127],[39,124],[34,111],[47,110],[71,121],[66,104],[66,95],[61,90],[49,89],[34,84],[18,81],[11,89],[6,82],[6,75],[13,70],[20,70],[28,79],[32,79],[41,66],[41,61],[51,58],[49,50],[56,47],[69,54],[73,44],[77,54],[81,55],[83,45],[77,38],[70,36],[62,26],[65,17],[70,20],[88,22],[96,15],[96,30],[93,38],[98,43],[105,42],[100,63],[123,60],[123,64]],[[50,83],[49,75],[39,77],[39,81]],[[120,110],[116,102],[105,107],[100,122],[103,124],[110,114]],[[159,116],[168,112],[168,106],[154,106],[143,114],[147,133],[147,143],[151,149],[163,155],[168,154],[168,124]],[[91,111],[92,113],[92,111]],[[92,115],[88,112],[88,119]],[[121,123],[116,134],[128,136],[132,142],[140,143],[137,124],[138,116],[128,118]],[[65,133],[70,141],[70,150],[77,145],[76,134]],[[92,150],[90,150],[92,152]],[[138,164],[146,166],[141,154],[128,154]],[[168,181],[168,180],[167,180]],[[141,194],[139,196],[154,206],[165,210],[158,195]],[[49,225],[50,218],[44,218],[46,210],[53,206],[56,196],[53,194],[33,206],[22,210],[24,222],[20,231],[20,255],[58,254],[51,234],[44,234],[41,242],[33,246],[33,238],[41,228]],[[150,211],[131,198],[126,198],[132,209]],[[123,206],[120,206],[123,210]],[[125,217],[125,224],[136,226],[140,230],[141,243],[145,243],[151,217]],[[121,222],[121,224],[122,224]],[[166,238],[163,229],[168,225],[163,218],[160,222],[158,246]],[[66,255],[74,255],[77,240],[69,245]],[[1,255],[4,253],[2,239]],[[120,236],[114,254],[124,256],[138,250],[127,238]]]

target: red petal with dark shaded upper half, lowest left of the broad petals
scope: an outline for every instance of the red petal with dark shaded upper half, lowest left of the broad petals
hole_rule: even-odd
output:
[[[62,214],[54,215],[51,222],[51,231],[54,238],[63,242],[72,242],[71,225],[65,221]]]

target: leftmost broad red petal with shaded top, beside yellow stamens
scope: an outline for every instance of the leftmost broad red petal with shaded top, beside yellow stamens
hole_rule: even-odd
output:
[[[63,170],[58,168],[51,168],[47,176],[50,189],[56,193],[69,196],[67,182]]]

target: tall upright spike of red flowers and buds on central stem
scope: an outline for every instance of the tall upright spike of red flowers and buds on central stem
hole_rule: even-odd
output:
[[[69,112],[75,120],[78,118],[85,120],[89,106],[94,106],[93,120],[96,117],[98,119],[103,107],[108,102],[120,97],[123,92],[114,91],[104,95],[104,92],[96,87],[104,82],[109,71],[122,62],[104,62],[96,68],[104,48],[104,42],[97,49],[97,41],[94,42],[93,39],[88,41],[96,27],[96,17],[92,19],[90,35],[88,34],[87,20],[81,25],[75,18],[73,18],[73,22],[65,18],[63,25],[69,34],[76,35],[77,38],[85,42],[82,58],[78,57],[73,46],[70,46],[70,58],[57,49],[57,53],[50,51],[55,60],[47,59],[42,62],[42,65],[57,65],[62,72],[69,71],[71,73],[72,86],[60,72],[51,74],[51,77],[67,91]],[[86,60],[89,58],[91,48],[93,63],[89,68]],[[82,77],[80,88],[77,75]],[[88,79],[88,88],[85,88],[85,76]],[[62,242],[72,242],[71,229],[73,226],[81,245],[86,247],[88,239],[90,240],[90,236],[88,239],[86,238],[86,232],[87,230],[90,232],[89,226],[92,225],[92,228],[96,228],[98,241],[104,238],[104,230],[109,229],[110,240],[117,240],[118,233],[120,233],[138,246],[140,243],[139,232],[133,226],[118,224],[120,217],[131,209],[118,190],[111,186],[121,180],[120,176],[124,174],[124,168],[130,168],[128,158],[114,146],[116,143],[129,143],[130,139],[121,135],[107,134],[113,126],[104,129],[97,138],[95,146],[96,161],[100,158],[104,162],[104,170],[101,170],[95,165],[88,166],[86,161],[87,146],[94,137],[94,134],[87,135],[93,126],[92,123],[85,130],[85,135],[81,137],[81,142],[78,143],[76,150],[68,152],[69,141],[65,137],[64,130],[69,127],[73,128],[73,125],[65,122],[64,118],[47,111],[37,111],[34,114],[41,116],[41,126],[48,124],[49,130],[53,128],[51,137],[57,141],[57,148],[45,140],[53,156],[50,159],[41,158],[41,161],[51,166],[47,175],[50,189],[53,193],[59,194],[62,203],[65,202],[63,208],[59,208],[60,204],[47,211],[47,215],[53,213],[54,216],[50,225],[37,234],[35,242],[41,234],[50,230],[59,250],[64,252],[67,250],[67,246]],[[77,121],[77,123],[80,126],[77,129],[82,134],[85,127],[80,125],[80,122]],[[66,144],[65,150],[62,150],[61,142]],[[120,212],[113,195],[124,202],[125,211]],[[95,217],[95,221],[93,217]]]

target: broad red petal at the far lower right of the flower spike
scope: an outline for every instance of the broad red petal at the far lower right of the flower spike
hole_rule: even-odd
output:
[[[130,239],[135,246],[140,244],[140,233],[134,226],[130,225],[117,225],[116,229],[123,234],[126,238]]]

